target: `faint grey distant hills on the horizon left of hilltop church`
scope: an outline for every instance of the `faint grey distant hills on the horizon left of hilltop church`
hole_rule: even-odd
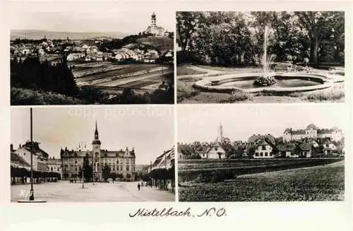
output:
[[[66,40],[68,37],[70,40],[87,40],[87,39],[112,39],[122,38],[127,34],[123,32],[57,32],[49,30],[11,30],[11,40],[30,39],[40,40],[44,36],[50,40]]]

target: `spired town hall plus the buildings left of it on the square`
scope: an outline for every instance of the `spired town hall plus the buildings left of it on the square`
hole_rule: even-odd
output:
[[[136,171],[135,150],[125,148],[120,150],[104,150],[101,148],[97,123],[95,127],[92,148],[68,150],[61,148],[60,159],[49,158],[49,154],[40,148],[40,143],[26,142],[16,150],[11,145],[11,166],[30,170],[30,156],[32,150],[33,170],[38,172],[58,172],[61,179],[72,179],[78,175],[83,167],[83,162],[87,158],[92,166],[96,181],[102,181],[102,169],[105,165],[110,168],[111,173],[121,174],[124,180],[133,180]],[[93,176],[92,176],[93,177]]]

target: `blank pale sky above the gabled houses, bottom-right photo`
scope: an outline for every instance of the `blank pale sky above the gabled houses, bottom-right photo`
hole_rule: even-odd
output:
[[[306,129],[338,126],[345,129],[345,105],[192,105],[179,106],[178,142],[215,141],[223,126],[223,136],[231,141],[247,141],[253,134],[282,136],[286,128]]]

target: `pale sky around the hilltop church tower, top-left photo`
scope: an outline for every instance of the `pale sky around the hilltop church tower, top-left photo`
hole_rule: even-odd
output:
[[[80,5],[83,5],[82,3]],[[150,25],[152,12],[155,11],[157,25],[174,31],[175,13],[154,9],[112,8],[13,8],[8,22],[11,30],[50,30],[58,32],[124,32],[135,34]]]

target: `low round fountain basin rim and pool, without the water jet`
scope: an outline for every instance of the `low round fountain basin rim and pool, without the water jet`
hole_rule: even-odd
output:
[[[194,86],[200,90],[217,93],[293,93],[330,88],[335,81],[317,73],[269,73],[277,80],[275,85],[253,86],[261,73],[233,73],[197,81]]]

